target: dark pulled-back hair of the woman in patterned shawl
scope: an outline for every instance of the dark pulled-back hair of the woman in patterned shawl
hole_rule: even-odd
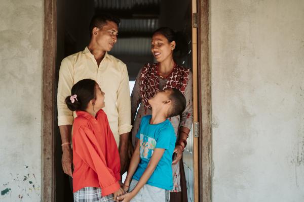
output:
[[[176,45],[173,51],[173,53],[176,53],[175,56],[177,55],[178,57],[183,57],[188,53],[188,43],[185,35],[182,32],[175,32],[169,27],[161,27],[155,30],[152,36],[156,33],[160,33],[165,36],[169,42],[175,41]]]

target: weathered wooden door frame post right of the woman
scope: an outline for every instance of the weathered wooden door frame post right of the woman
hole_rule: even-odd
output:
[[[209,66],[209,0],[198,0],[199,201],[211,197],[211,72]]]

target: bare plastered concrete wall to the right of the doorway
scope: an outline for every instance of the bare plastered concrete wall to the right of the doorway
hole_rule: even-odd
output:
[[[304,1],[210,1],[212,196],[304,201]]]

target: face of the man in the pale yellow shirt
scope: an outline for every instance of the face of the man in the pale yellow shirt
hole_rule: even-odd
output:
[[[117,41],[118,27],[115,22],[106,21],[102,28],[97,28],[95,41],[102,51],[109,52]]]

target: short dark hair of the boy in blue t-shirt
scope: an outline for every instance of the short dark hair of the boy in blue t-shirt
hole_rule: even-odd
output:
[[[181,114],[186,108],[186,98],[185,96],[176,88],[168,89],[171,91],[169,99],[172,102],[172,107],[169,110],[169,115],[167,118],[177,116]]]

